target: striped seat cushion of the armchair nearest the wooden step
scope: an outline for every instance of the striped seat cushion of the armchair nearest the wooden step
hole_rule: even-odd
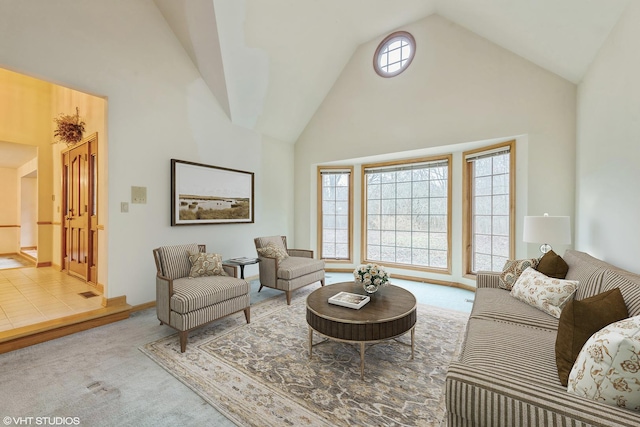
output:
[[[230,276],[203,276],[173,281],[171,310],[185,314],[249,293],[249,284]]]

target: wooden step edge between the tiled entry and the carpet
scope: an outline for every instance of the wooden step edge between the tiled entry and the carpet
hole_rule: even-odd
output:
[[[125,304],[0,332],[0,354],[124,320],[130,313]]]

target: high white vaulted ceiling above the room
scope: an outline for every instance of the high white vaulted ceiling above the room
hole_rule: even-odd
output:
[[[355,49],[403,25],[437,13],[579,83],[629,1],[155,3],[232,122],[295,143]]]

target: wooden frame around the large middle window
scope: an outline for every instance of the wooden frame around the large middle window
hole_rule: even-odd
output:
[[[401,268],[405,270],[415,270],[415,271],[424,271],[431,273],[439,273],[439,274],[451,274],[451,247],[452,247],[452,167],[453,167],[453,155],[452,154],[444,154],[439,156],[431,156],[431,157],[420,157],[413,159],[405,159],[398,160],[392,162],[382,162],[382,163],[369,163],[363,164],[361,168],[361,218],[360,218],[360,227],[361,227],[361,242],[360,242],[360,258],[362,263],[378,263],[384,264],[388,267]],[[384,168],[384,167],[394,167],[394,166],[403,166],[403,165],[411,165],[415,163],[432,163],[438,161],[446,161],[447,162],[447,266],[446,268],[437,268],[437,267],[429,267],[429,266],[418,266],[411,264],[400,264],[393,263],[388,261],[380,261],[380,260],[370,260],[367,258],[367,208],[368,208],[368,200],[367,200],[367,181],[366,181],[366,172],[367,169],[372,168]]]

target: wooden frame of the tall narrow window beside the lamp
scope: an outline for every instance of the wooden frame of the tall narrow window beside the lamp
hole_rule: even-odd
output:
[[[473,271],[473,162],[467,161],[469,156],[508,148],[509,150],[509,259],[515,254],[516,230],[516,141],[506,141],[490,146],[465,151],[462,153],[462,266],[463,277],[475,279],[478,272]]]

